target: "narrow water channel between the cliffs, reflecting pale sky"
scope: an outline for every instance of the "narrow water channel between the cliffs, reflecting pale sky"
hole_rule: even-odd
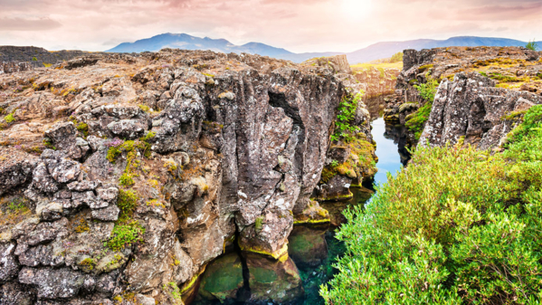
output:
[[[364,184],[366,187],[351,188],[354,197],[345,202],[322,202],[320,205],[329,211],[331,224],[322,225],[296,225],[289,237],[289,255],[300,272],[304,297],[288,303],[292,305],[323,305],[324,300],[319,296],[319,287],[333,278],[333,268],[338,256],[345,252],[344,245],[335,239],[335,231],[346,220],[342,212],[352,205],[365,205],[375,194],[374,185],[387,181],[387,173],[395,175],[408,161],[408,152],[404,149],[404,135],[401,127],[387,126],[382,118],[384,100],[382,97],[366,100],[372,118],[372,136],[376,141],[376,156],[378,157],[378,173],[374,181]],[[232,254],[230,254],[232,255]],[[234,255],[233,255],[234,256]],[[235,261],[235,260],[233,260]],[[233,262],[232,261],[232,262]],[[237,261],[235,261],[237,262]],[[240,264],[240,262],[237,262]],[[229,268],[223,266],[221,268]],[[294,267],[295,268],[295,267]],[[226,278],[230,274],[224,274]],[[215,279],[214,281],[229,281],[228,279]],[[271,285],[288,287],[287,283],[276,282]],[[234,285],[233,285],[234,286]],[[285,291],[286,293],[287,291]],[[223,300],[225,304],[250,304],[233,299]],[[218,300],[202,300],[196,298],[197,305],[221,304]],[[266,302],[265,304],[273,304]]]

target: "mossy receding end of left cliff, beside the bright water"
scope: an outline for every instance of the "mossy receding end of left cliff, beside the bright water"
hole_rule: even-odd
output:
[[[361,187],[376,174],[375,142],[371,136],[371,116],[367,110],[364,99],[367,91],[385,92],[385,77],[388,72],[352,71],[345,55],[321,57],[301,63],[309,67],[325,67],[336,73],[336,77],[345,86],[347,96],[339,108],[339,115],[345,118],[338,121],[338,125],[349,129],[347,134],[336,132],[334,140],[328,151],[326,167],[324,167],[319,186],[316,187],[313,197],[319,202],[345,201],[353,197],[350,187]],[[384,73],[384,74],[383,74]],[[361,79],[366,82],[358,81]],[[375,86],[378,82],[380,85]],[[355,105],[355,107],[348,107]],[[316,205],[310,211],[318,210]]]

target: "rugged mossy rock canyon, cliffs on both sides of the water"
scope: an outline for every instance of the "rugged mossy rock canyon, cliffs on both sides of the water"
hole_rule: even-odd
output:
[[[0,304],[301,304],[307,271],[335,274],[330,228],[374,194],[381,133],[394,168],[416,146],[499,153],[541,68],[521,47],[406,50],[402,70],[174,49],[5,63]]]

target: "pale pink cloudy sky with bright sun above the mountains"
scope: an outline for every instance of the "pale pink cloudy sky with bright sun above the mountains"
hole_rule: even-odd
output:
[[[352,52],[470,35],[542,40],[542,0],[0,0],[0,45],[105,51],[160,33]]]

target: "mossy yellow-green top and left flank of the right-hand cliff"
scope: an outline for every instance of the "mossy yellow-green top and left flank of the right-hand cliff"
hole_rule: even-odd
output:
[[[461,72],[469,73],[471,81],[479,79],[472,73],[490,79],[490,82],[483,81],[480,87],[504,89],[488,91],[489,95],[527,91],[542,96],[540,55],[540,52],[522,47],[449,47],[420,52],[405,50],[404,69],[397,77],[395,96],[386,105],[385,119],[389,123],[406,125],[409,145],[415,145],[429,119],[437,87],[439,84],[442,87],[442,83],[449,86],[452,81],[463,83],[462,79],[454,79],[454,75]],[[458,91],[465,89],[465,84],[458,86]],[[446,93],[446,96],[450,94]],[[491,124],[488,126],[493,127]]]

